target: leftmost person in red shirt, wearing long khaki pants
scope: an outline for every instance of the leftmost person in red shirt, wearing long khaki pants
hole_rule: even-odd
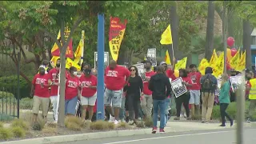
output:
[[[50,104],[50,93],[49,93],[49,83],[48,74],[45,74],[46,70],[44,67],[39,67],[39,74],[36,74],[32,81],[31,93],[33,97],[33,109],[32,112],[33,122],[38,118],[38,112],[40,106],[42,106],[42,118],[46,121],[49,104]]]

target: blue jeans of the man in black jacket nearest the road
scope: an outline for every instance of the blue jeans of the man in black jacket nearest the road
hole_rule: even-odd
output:
[[[153,100],[153,125],[158,125],[158,107],[160,108],[160,129],[165,127],[166,100]]]

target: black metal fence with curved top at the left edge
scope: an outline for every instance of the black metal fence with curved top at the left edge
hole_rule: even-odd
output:
[[[19,118],[20,50],[11,42],[0,42],[0,116]]]

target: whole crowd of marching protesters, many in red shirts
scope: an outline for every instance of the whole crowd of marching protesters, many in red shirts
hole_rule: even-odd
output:
[[[175,58],[173,60],[175,62]],[[140,119],[153,118],[153,131],[157,132],[157,122],[160,119],[160,132],[164,132],[166,122],[170,118],[171,98],[176,102],[177,115],[174,120],[180,120],[182,109],[185,109],[187,120],[202,115],[202,122],[209,123],[214,104],[219,104],[222,124],[226,126],[225,118],[233,126],[234,120],[226,113],[230,102],[235,101],[234,91],[231,90],[230,76],[238,75],[235,70],[230,75],[222,74],[222,83],[218,87],[218,80],[213,75],[211,67],[206,68],[202,76],[197,66],[191,64],[188,69],[180,69],[179,76],[182,85],[186,86],[186,93],[175,97],[171,90],[171,81],[176,79],[174,66],[161,62],[152,70],[150,61],[145,65],[145,78],[138,74],[136,66],[126,68],[119,66],[114,60],[110,61],[105,69],[104,105],[106,121],[128,122],[137,124]],[[49,67],[53,66],[50,70]],[[47,61],[42,62],[38,74],[32,81],[31,96],[34,98],[34,122],[38,116],[39,107],[42,106],[42,118],[47,118],[50,105],[53,107],[54,121],[58,121],[58,93],[59,93],[60,59],[55,66]],[[82,63],[78,71],[71,66],[66,69],[65,114],[77,115],[84,120],[95,121],[97,103],[97,70],[89,64]],[[256,106],[256,79],[250,70],[246,70],[246,99],[250,99],[250,112],[247,122]]]

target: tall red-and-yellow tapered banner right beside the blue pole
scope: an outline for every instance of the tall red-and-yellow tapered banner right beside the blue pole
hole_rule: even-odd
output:
[[[122,42],[122,38],[126,31],[126,23],[121,23],[119,18],[110,18],[110,34],[109,45],[112,58],[117,61],[118,54]]]

